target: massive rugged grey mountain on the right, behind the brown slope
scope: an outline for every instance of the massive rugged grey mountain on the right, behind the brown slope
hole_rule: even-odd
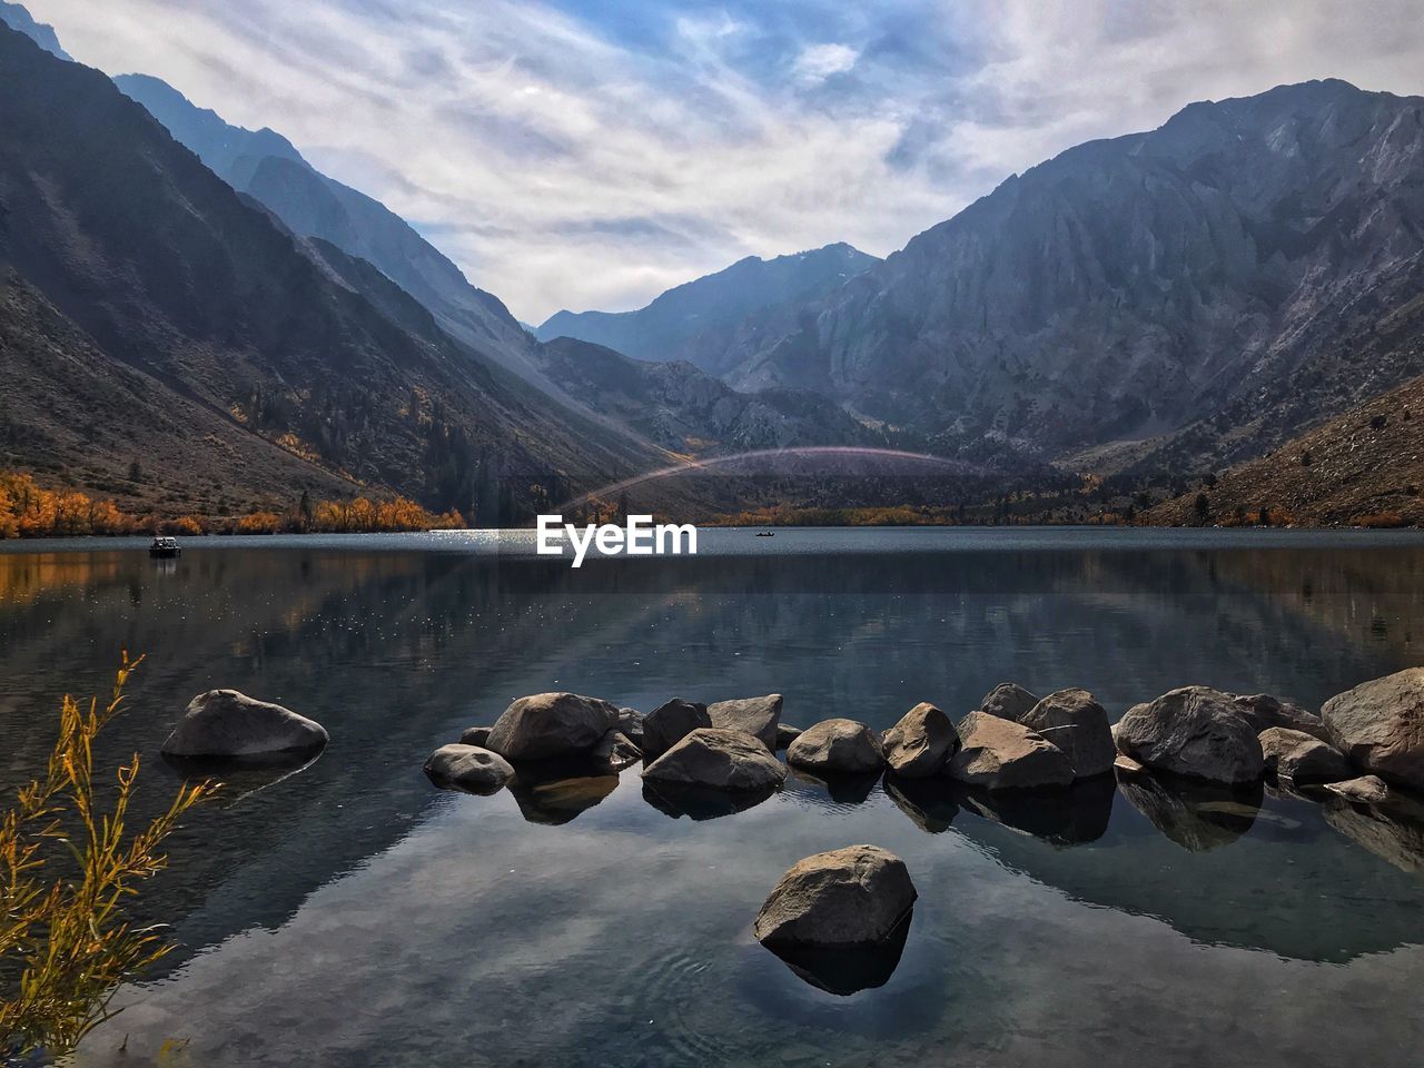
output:
[[[1193,104],[1010,178],[736,353],[930,436],[1200,470],[1424,370],[1424,100]],[[1077,456],[1075,456],[1077,454]]]

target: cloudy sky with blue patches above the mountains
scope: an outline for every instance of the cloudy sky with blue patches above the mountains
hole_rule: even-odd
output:
[[[745,255],[877,255],[1081,141],[1343,77],[1418,0],[28,0],[80,61],[286,134],[541,322]]]

